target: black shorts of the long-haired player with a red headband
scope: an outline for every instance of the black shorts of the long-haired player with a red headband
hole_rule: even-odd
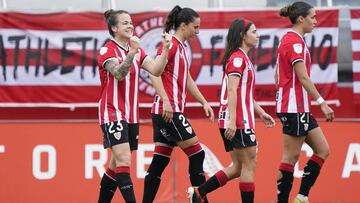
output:
[[[256,136],[254,129],[236,129],[235,137],[232,140],[228,140],[225,138],[224,128],[220,128],[220,134],[224,142],[225,151],[233,151],[234,148],[245,148],[245,147],[252,147],[256,146]]]

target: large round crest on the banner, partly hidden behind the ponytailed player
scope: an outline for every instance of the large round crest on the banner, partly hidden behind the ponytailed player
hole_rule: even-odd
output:
[[[155,58],[157,50],[162,43],[161,35],[163,34],[166,18],[162,15],[153,16],[144,19],[135,25],[134,34],[140,38],[141,47],[145,53]],[[187,58],[189,59],[190,74],[194,80],[198,77],[203,60],[203,51],[197,36],[186,42]],[[171,43],[170,49],[173,47]],[[140,69],[139,91],[149,96],[155,95],[155,89],[151,85],[149,73]]]

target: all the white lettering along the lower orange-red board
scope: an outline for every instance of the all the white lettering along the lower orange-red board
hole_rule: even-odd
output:
[[[206,156],[204,160],[204,171],[211,177],[217,171],[224,168],[219,161],[218,157],[207,146],[201,144]],[[150,165],[152,155],[146,156],[146,152],[154,151],[154,144],[139,144],[136,151],[136,177],[143,179],[146,176],[146,165]],[[313,155],[313,150],[307,144],[303,144],[301,151],[304,151],[307,157]],[[5,152],[5,146],[0,145],[0,153]],[[46,171],[41,171],[41,155],[48,154],[48,168]],[[55,177],[57,164],[56,164],[56,149],[53,145],[37,145],[32,153],[32,174],[36,179],[49,180]],[[99,153],[99,158],[95,159],[94,154]],[[85,178],[93,179],[93,169],[98,172],[99,177],[105,172],[104,165],[108,161],[108,152],[101,144],[86,144],[85,145]],[[360,172],[360,143],[351,143],[349,145],[344,168],[342,171],[342,178],[350,178],[352,172]],[[294,177],[301,178],[304,171],[300,169],[299,162],[294,167]]]

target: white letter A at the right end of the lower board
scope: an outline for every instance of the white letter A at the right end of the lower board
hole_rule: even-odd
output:
[[[356,161],[354,162],[354,159]],[[346,153],[342,178],[349,178],[351,172],[360,172],[360,144],[351,143]]]

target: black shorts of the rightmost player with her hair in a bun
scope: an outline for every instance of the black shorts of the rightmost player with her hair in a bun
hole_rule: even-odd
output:
[[[319,127],[310,112],[277,113],[282,125],[283,133],[291,136],[307,136],[309,131]]]

